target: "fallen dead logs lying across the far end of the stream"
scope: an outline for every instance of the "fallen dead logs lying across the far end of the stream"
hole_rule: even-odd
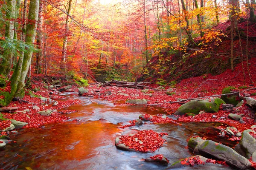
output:
[[[110,82],[105,82],[104,84],[100,85],[102,87],[105,86],[116,86],[122,88],[149,88],[148,86],[142,85],[143,83],[150,83],[150,82],[122,82],[117,80],[111,80]]]

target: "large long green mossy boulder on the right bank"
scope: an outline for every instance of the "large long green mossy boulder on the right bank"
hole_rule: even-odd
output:
[[[191,100],[178,108],[174,113],[175,115],[183,115],[185,113],[194,113],[198,114],[200,111],[204,110],[207,113],[216,113],[219,110],[219,107],[222,103],[225,103],[220,98],[210,98],[203,100]]]

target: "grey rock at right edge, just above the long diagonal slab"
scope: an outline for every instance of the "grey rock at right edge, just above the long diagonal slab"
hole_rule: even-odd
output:
[[[256,133],[253,130],[244,130],[242,133],[242,138],[239,142],[241,144],[241,147],[246,153],[246,158],[250,159],[250,157],[253,155],[253,153],[256,150],[256,139],[250,135],[250,132]]]

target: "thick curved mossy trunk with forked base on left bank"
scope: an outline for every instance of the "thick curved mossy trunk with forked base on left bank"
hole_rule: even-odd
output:
[[[30,0],[29,4],[29,17],[28,20],[35,21],[29,22],[26,28],[25,42],[28,45],[33,45],[35,42],[36,27],[38,21],[39,0]],[[29,70],[33,51],[31,48],[26,48],[23,56],[20,56],[15,71],[10,79],[11,81],[11,94],[7,95],[4,99],[4,105],[8,105],[12,99],[23,89],[25,86],[25,77]]]

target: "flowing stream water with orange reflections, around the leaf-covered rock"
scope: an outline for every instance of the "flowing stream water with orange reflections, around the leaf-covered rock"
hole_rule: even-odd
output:
[[[70,96],[71,97],[71,96]],[[218,123],[155,124],[144,122],[141,126],[126,127],[129,120],[140,114],[165,114],[161,108],[147,106],[118,106],[113,103],[86,97],[73,97],[81,104],[70,106],[78,112],[70,113],[70,119],[79,122],[48,124],[41,130],[28,128],[10,135],[17,143],[8,144],[0,151],[0,169],[3,170],[164,170],[166,166],[148,163],[141,159],[156,154],[166,156],[170,164],[192,156],[186,148],[191,136],[199,135],[228,144],[216,134],[212,126]],[[99,120],[99,119],[105,120]],[[163,136],[166,142],[154,153],[128,152],[116,149],[114,140],[124,134],[152,129]],[[207,167],[206,167],[207,166]],[[231,169],[219,165],[183,167],[179,169]]]

